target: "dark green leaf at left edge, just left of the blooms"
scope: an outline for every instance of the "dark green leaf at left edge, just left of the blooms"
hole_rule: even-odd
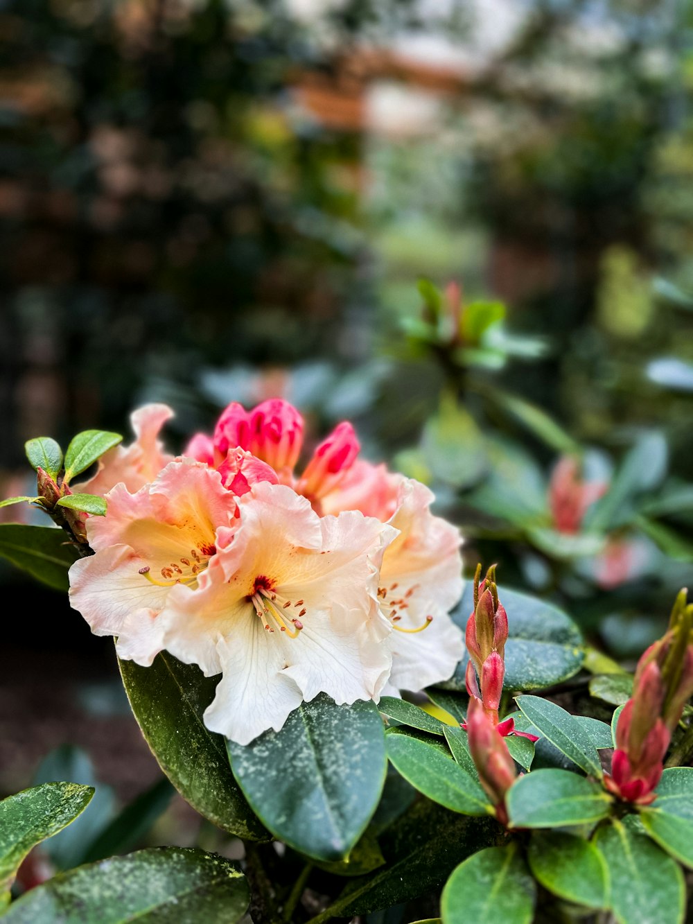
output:
[[[0,523],[0,556],[55,590],[69,590],[67,569],[79,558],[57,527]]]

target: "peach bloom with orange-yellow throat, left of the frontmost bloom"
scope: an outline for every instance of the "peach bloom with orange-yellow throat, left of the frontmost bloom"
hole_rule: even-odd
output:
[[[170,462],[138,492],[120,482],[106,496],[107,516],[87,522],[94,554],[70,567],[70,601],[96,635],[118,636],[122,657],[151,664],[170,593],[204,586],[231,541],[237,501],[191,459]]]

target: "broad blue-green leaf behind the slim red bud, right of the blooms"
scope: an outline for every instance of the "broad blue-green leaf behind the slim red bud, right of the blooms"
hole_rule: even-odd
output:
[[[464,596],[452,614],[463,631],[474,607],[473,596],[472,582],[468,581]],[[541,689],[577,674],[584,658],[582,636],[562,610],[553,603],[504,587],[498,588],[498,596],[508,617],[505,689]],[[451,679],[438,686],[465,690],[467,661],[465,654]]]

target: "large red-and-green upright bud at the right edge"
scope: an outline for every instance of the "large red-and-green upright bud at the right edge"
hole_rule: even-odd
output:
[[[648,805],[687,700],[693,695],[693,605],[676,598],[669,628],[638,662],[633,696],[616,723],[608,788],[627,802]]]

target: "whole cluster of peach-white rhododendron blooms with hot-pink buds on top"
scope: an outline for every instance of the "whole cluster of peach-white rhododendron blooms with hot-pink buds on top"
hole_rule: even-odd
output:
[[[222,675],[205,723],[239,744],[320,692],[377,701],[452,675],[460,537],[428,488],[360,459],[348,423],[297,472],[303,420],[283,400],[231,404],[177,458],[158,439],[171,413],[136,411],[135,442],[80,486],[108,502],[70,569],[93,632],[121,658]]]

